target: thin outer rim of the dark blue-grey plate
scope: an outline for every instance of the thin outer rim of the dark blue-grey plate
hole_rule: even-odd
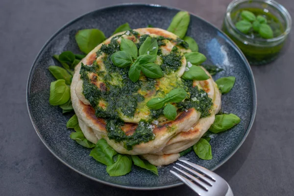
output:
[[[102,183],[102,184],[106,184],[106,185],[109,185],[109,186],[114,186],[114,187],[117,187],[117,188],[123,188],[123,189],[130,189],[130,190],[159,190],[159,189],[167,189],[167,188],[172,188],[172,187],[177,187],[177,186],[180,186],[180,185],[183,185],[184,183],[183,182],[178,182],[178,183],[174,183],[174,184],[170,184],[170,185],[163,185],[163,186],[154,186],[154,187],[136,187],[136,186],[126,186],[126,185],[119,185],[119,184],[115,184],[115,183],[112,183],[112,182],[107,182],[107,181],[103,181],[103,180],[100,180],[100,179],[97,179],[95,177],[92,177],[90,175],[87,175],[75,168],[73,168],[71,165],[69,165],[68,163],[66,163],[62,158],[60,158],[59,156],[57,156],[53,150],[49,147],[49,145],[47,145],[45,143],[45,141],[42,139],[42,136],[41,134],[39,133],[33,119],[32,119],[32,115],[31,115],[31,111],[30,111],[30,108],[29,108],[29,104],[28,104],[28,97],[29,97],[29,89],[30,89],[30,81],[31,81],[31,76],[32,76],[32,73],[33,71],[36,69],[36,61],[37,59],[39,58],[39,56],[41,55],[41,53],[43,52],[43,50],[47,47],[47,45],[49,44],[49,42],[60,32],[62,32],[64,30],[64,28],[66,28],[68,25],[71,25],[72,23],[74,23],[75,21],[79,20],[80,18],[88,15],[88,14],[91,14],[91,13],[94,13],[94,12],[97,12],[97,11],[100,11],[100,10],[103,10],[103,9],[108,9],[108,8],[114,8],[114,7],[123,7],[123,6],[136,6],[136,5],[143,5],[143,6],[146,6],[146,7],[163,7],[163,8],[167,8],[167,9],[173,9],[173,10],[179,10],[179,11],[186,11],[186,10],[183,10],[183,9],[180,9],[180,8],[177,8],[177,7],[172,7],[172,6],[168,6],[168,5],[161,5],[161,4],[153,4],[153,3],[119,3],[119,4],[113,4],[113,5],[109,5],[109,6],[103,6],[99,9],[95,9],[95,10],[92,10],[92,11],[89,11],[85,14],[81,14],[79,15],[78,17],[74,18],[73,20],[69,21],[68,23],[66,23],[65,25],[63,25],[62,27],[60,27],[55,33],[53,33],[50,38],[46,41],[46,43],[43,45],[43,47],[40,49],[40,51],[38,52],[38,54],[36,55],[33,63],[32,63],[32,66],[29,70],[29,74],[28,74],[28,78],[27,78],[27,83],[26,83],[26,107],[27,107],[27,111],[28,111],[28,114],[29,114],[29,118],[30,118],[30,121],[31,123],[33,124],[33,127],[37,133],[37,135],[39,136],[40,140],[42,141],[42,143],[45,145],[45,147],[47,147],[47,149],[49,150],[49,152],[51,152],[51,154],[53,154],[61,163],[63,163],[64,165],[66,165],[67,167],[69,167],[70,169],[72,169],[74,172],[77,172],[87,178],[90,178],[94,181],[97,181],[99,183]],[[254,75],[253,75],[253,72],[251,70],[251,67],[250,67],[250,64],[249,62],[247,61],[247,59],[245,58],[245,55],[244,53],[241,51],[241,49],[239,49],[239,47],[233,42],[233,40],[228,37],[221,29],[219,29],[216,25],[213,25],[211,24],[210,22],[204,20],[203,18],[197,16],[196,14],[194,13],[191,13],[189,12],[190,15],[198,18],[199,20],[205,22],[205,23],[208,23],[209,25],[212,25],[216,30],[220,31],[221,34],[226,38],[228,39],[231,43],[231,46],[240,54],[242,60],[245,61],[245,64],[246,64],[246,68],[250,74],[250,83],[251,83],[251,86],[252,86],[252,98],[253,98],[253,110],[252,110],[252,114],[251,114],[251,119],[250,119],[250,123],[248,124],[248,128],[244,134],[244,137],[243,139],[241,140],[241,142],[239,143],[239,145],[223,160],[221,161],[216,167],[212,168],[211,171],[215,171],[216,169],[218,169],[219,167],[221,167],[225,162],[227,162],[235,153],[236,151],[242,146],[242,144],[245,142],[251,128],[252,128],[252,125],[254,123],[254,119],[255,119],[255,115],[256,115],[256,108],[257,108],[257,92],[256,92],[256,84],[255,84],[255,79],[254,79]]]

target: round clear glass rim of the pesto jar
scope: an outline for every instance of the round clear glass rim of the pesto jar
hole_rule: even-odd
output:
[[[239,32],[238,29],[236,28],[236,26],[234,25],[232,19],[231,19],[231,11],[233,10],[233,8],[235,8],[237,5],[239,5],[240,3],[246,2],[246,1],[250,1],[250,2],[263,2],[263,3],[267,3],[269,5],[271,5],[272,7],[274,7],[275,9],[277,9],[285,18],[285,22],[286,22],[286,29],[285,31],[274,38],[270,38],[270,39],[262,39],[262,40],[257,40],[255,38],[252,38],[248,35],[245,35],[243,33],[239,33],[239,35],[243,36],[243,38],[246,38],[247,41],[248,40],[252,40],[254,42],[267,42],[267,43],[274,43],[274,42],[278,42],[283,40],[289,33],[291,30],[291,26],[292,26],[292,18],[290,16],[290,13],[288,12],[288,10],[281,5],[280,3],[276,2],[275,0],[233,0],[232,2],[230,2],[230,4],[227,7],[226,10],[226,20],[228,21],[229,25],[231,28],[234,29],[234,31]]]

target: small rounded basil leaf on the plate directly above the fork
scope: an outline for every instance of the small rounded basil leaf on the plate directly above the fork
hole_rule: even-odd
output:
[[[200,159],[212,159],[211,146],[205,139],[200,138],[200,140],[193,146],[193,149]]]

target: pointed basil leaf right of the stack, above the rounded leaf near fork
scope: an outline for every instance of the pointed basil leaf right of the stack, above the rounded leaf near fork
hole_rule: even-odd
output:
[[[214,133],[220,133],[229,128],[232,128],[236,124],[240,123],[240,118],[234,114],[221,114],[216,115],[214,123],[209,127],[209,131]]]

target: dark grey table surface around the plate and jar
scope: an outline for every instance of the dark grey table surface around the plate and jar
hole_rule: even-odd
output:
[[[70,20],[124,0],[0,1],[0,196],[193,196],[186,186],[132,191],[92,181],[42,144],[26,109],[31,64],[49,37]],[[230,0],[141,0],[170,5],[221,26]],[[293,0],[279,0],[294,13]],[[258,107],[243,146],[216,172],[236,196],[294,196],[294,29],[280,57],[252,67]]]

